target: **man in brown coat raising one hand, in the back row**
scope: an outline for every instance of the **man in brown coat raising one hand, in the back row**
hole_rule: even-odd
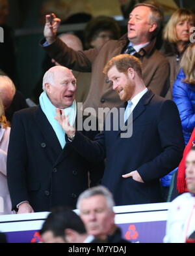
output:
[[[46,15],[42,46],[58,63],[74,71],[92,72],[90,91],[84,108],[118,106],[122,102],[117,93],[112,90],[107,76],[103,74],[103,67],[114,56],[127,53],[129,46],[135,50],[131,52],[142,61],[143,78],[146,87],[153,93],[164,97],[168,90],[169,63],[162,54],[155,49],[155,36],[162,25],[162,14],[159,9],[148,4],[138,4],[129,15],[127,35],[119,40],[109,40],[99,49],[75,52],[68,48],[57,37],[60,19],[53,15]],[[128,52],[129,53],[129,52]]]

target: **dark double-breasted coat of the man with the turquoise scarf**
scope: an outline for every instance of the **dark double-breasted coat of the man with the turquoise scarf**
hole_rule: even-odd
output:
[[[83,120],[81,120],[83,122]],[[98,131],[83,131],[94,138]],[[35,212],[75,208],[77,197],[99,183],[103,163],[88,163],[68,144],[62,148],[40,106],[19,110],[12,120],[7,175],[12,208],[28,200]]]

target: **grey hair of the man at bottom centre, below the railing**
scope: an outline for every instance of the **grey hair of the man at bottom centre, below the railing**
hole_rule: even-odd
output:
[[[115,205],[114,199],[112,197],[112,193],[110,193],[109,189],[103,187],[103,185],[99,185],[97,187],[91,187],[90,189],[86,189],[77,200],[77,209],[80,209],[81,200],[89,199],[90,197],[94,197],[95,195],[102,195],[107,200],[107,206],[112,211]]]

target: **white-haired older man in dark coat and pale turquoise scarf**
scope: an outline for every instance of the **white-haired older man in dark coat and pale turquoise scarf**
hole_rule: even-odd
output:
[[[75,208],[77,197],[99,183],[103,162],[96,166],[75,152],[55,120],[56,108],[73,124],[83,123],[75,103],[76,80],[66,67],[52,67],[44,75],[40,105],[14,114],[7,158],[12,209],[18,213],[49,211],[55,206]],[[77,118],[80,117],[80,118]],[[83,131],[93,139],[98,131]]]

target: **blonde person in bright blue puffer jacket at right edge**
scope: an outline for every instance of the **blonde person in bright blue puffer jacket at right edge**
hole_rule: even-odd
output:
[[[195,43],[189,44],[180,65],[181,69],[173,86],[173,100],[179,110],[185,145],[187,145],[195,127]],[[169,187],[175,170],[161,179],[162,186]]]

